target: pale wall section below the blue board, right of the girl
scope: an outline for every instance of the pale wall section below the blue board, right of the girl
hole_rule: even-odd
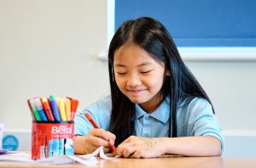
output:
[[[256,62],[189,62],[225,132],[256,132]]]

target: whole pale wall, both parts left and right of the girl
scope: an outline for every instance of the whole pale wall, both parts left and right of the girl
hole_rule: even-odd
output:
[[[0,122],[31,129],[27,98],[72,96],[79,109],[108,94],[105,0],[0,0]],[[256,62],[186,62],[224,133],[256,136]]]

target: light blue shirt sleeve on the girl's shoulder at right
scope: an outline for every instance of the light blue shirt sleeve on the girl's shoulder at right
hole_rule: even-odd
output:
[[[204,98],[194,98],[189,104],[188,120],[189,136],[212,136],[221,142],[224,150],[224,137],[218,124],[217,116],[213,114],[212,105]]]

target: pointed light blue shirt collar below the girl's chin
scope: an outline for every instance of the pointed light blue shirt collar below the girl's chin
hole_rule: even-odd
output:
[[[143,115],[147,115],[147,112],[144,111],[138,104],[135,104],[135,107],[136,107],[137,120],[140,119]],[[157,109],[155,109],[151,114],[148,114],[148,115],[166,124],[166,122],[169,119],[169,113],[170,113],[170,97],[166,96],[165,100],[160,104],[160,106]]]

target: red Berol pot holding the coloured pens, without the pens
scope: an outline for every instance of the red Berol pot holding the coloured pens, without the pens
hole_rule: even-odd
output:
[[[73,155],[73,121],[32,122],[32,160]]]

